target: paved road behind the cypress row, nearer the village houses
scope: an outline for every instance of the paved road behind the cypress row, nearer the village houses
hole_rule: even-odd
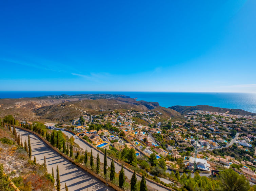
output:
[[[66,134],[68,137],[71,137],[73,136],[75,138],[75,142],[82,148],[84,149],[85,151],[85,148],[87,148],[87,152],[91,152],[91,149],[92,149],[92,152],[93,152],[93,156],[96,158],[97,157],[97,154],[99,153],[99,156],[100,156],[100,161],[103,162],[104,161],[104,155],[101,154],[100,152],[98,152],[95,148],[93,148],[91,145],[88,145],[86,144],[85,142],[83,142],[82,140],[80,140],[79,137],[73,135],[72,133],[70,132],[67,132],[67,131],[62,131],[64,134]],[[107,158],[107,165],[110,166],[111,164],[111,160],[109,158]],[[119,173],[119,171],[121,170],[121,166],[117,163],[115,163],[115,170],[116,170],[116,173]],[[127,176],[128,179],[131,179],[132,178],[132,175],[133,175],[133,172],[130,172],[128,170],[126,170],[124,168],[124,173],[125,173],[125,176]],[[137,180],[141,180],[140,176],[137,176]],[[146,181],[146,184],[147,186],[153,188],[153,189],[156,189],[156,190],[159,190],[159,191],[169,191],[168,189],[165,189],[161,186],[158,186],[157,184],[154,184],[152,182],[149,182],[149,181]]]

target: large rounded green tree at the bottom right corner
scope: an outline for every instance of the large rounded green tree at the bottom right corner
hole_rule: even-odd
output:
[[[245,176],[239,175],[231,168],[220,172],[219,179],[221,191],[247,191],[250,188]]]

